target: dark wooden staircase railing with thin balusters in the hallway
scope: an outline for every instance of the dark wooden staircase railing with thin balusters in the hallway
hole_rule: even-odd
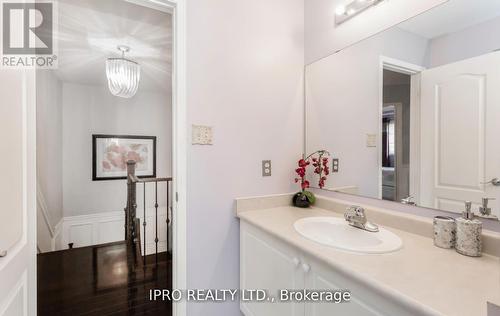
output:
[[[166,206],[167,206],[167,214],[166,214],[166,251],[168,253],[170,248],[170,188],[172,183],[172,178],[139,178],[136,176],[136,162],[130,160],[127,162],[127,206],[125,207],[125,239],[131,243],[134,247],[136,247],[136,254],[141,253],[141,241],[143,243],[143,251],[142,251],[142,259],[143,264],[146,265],[146,229],[147,229],[147,214],[146,214],[146,189],[147,185],[154,184],[154,192],[155,192],[155,261],[158,263],[158,183],[165,182],[166,183]],[[143,186],[143,221],[142,221],[142,238],[141,238],[141,225],[140,219],[137,217],[138,205],[137,205],[137,185],[142,184]]]

